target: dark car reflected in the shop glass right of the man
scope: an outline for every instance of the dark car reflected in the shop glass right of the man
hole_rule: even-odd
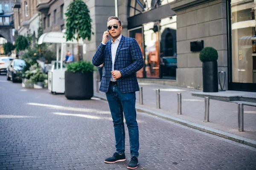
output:
[[[177,57],[163,57],[162,60],[163,76],[176,76]]]

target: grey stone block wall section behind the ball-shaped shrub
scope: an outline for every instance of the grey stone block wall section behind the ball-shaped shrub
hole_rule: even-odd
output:
[[[204,40],[204,47],[218,51],[218,71],[226,71],[227,89],[226,0],[178,0],[171,8],[177,14],[177,85],[202,88],[202,62],[199,52],[190,51],[190,42]]]

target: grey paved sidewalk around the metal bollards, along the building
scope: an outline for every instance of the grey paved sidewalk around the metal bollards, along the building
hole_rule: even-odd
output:
[[[204,98],[191,95],[192,91],[199,90],[145,82],[139,82],[139,85],[143,87],[143,105],[139,103],[138,91],[136,104],[141,108],[256,141],[256,107],[244,105],[244,132],[241,133],[238,131],[236,103],[210,99],[209,122],[203,122]],[[156,108],[156,89],[160,89],[161,109]],[[177,115],[177,93],[182,95],[182,115]],[[105,96],[102,92],[95,94]]]

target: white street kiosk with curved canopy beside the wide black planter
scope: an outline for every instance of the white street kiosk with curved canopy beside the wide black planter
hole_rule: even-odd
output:
[[[48,71],[48,90],[52,94],[65,93],[65,71],[63,67],[64,48],[66,44],[77,44],[77,40],[66,41],[66,34],[63,32],[47,32],[38,39],[38,45],[42,43],[57,43],[56,61],[52,61],[52,69]],[[61,59],[59,61],[59,44],[61,44]],[[82,39],[79,39],[79,45],[83,45]]]

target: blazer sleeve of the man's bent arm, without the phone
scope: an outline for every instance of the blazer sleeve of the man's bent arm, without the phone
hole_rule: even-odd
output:
[[[131,58],[133,61],[131,65],[120,70],[122,77],[129,76],[139,71],[141,68],[143,68],[144,65],[140,46],[134,38],[131,41]]]

